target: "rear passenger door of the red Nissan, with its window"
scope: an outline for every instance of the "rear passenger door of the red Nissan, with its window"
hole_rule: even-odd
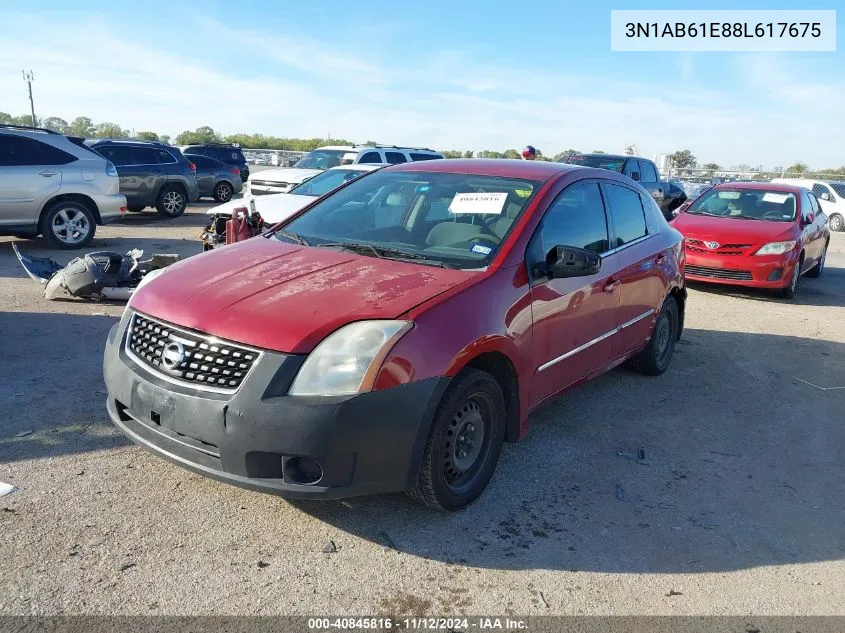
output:
[[[613,349],[613,356],[619,357],[642,347],[651,335],[655,311],[665,294],[660,271],[669,262],[666,253],[654,252],[651,238],[659,228],[647,222],[643,207],[644,202],[651,202],[621,182],[603,181],[602,191],[610,215],[611,252],[618,267],[611,285],[619,294],[619,332]],[[656,209],[652,211],[657,213]]]

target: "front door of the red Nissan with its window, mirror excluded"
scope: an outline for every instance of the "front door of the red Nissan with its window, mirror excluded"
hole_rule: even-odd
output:
[[[598,274],[549,279],[546,255],[555,246],[608,251],[608,222],[597,181],[579,181],[551,203],[528,244],[535,405],[602,368],[610,359],[619,294],[608,287],[614,256]]]

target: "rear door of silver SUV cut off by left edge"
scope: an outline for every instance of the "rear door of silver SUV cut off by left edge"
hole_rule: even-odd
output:
[[[35,225],[76,157],[24,136],[0,134],[0,226]]]

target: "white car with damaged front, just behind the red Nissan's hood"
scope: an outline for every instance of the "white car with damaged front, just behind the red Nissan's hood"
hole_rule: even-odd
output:
[[[235,209],[246,206],[250,209],[250,213],[257,212],[265,223],[277,224],[311,204],[320,196],[364,174],[381,169],[381,167],[381,165],[363,163],[332,167],[295,186],[288,193],[274,193],[257,197],[247,194],[242,199],[212,207],[206,211],[206,214],[231,218]]]

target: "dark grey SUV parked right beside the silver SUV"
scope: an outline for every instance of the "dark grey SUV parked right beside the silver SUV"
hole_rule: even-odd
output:
[[[117,168],[120,192],[130,211],[155,207],[160,215],[175,218],[199,198],[196,165],[175,147],[122,139],[88,139],[85,143]]]

